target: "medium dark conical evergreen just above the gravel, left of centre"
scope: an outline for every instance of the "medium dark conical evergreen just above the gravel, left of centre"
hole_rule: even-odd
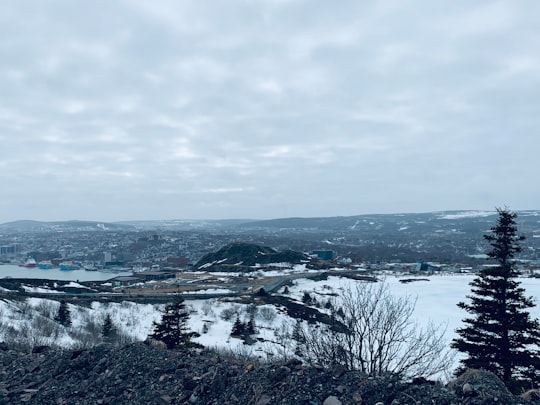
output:
[[[165,343],[168,349],[202,347],[192,341],[199,334],[189,330],[188,320],[189,312],[184,299],[178,296],[174,302],[165,306],[161,321],[154,322],[154,331],[150,337]]]

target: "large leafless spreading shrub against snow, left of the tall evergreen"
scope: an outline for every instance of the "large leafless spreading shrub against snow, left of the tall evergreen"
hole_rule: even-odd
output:
[[[300,325],[296,340],[311,363],[341,364],[372,376],[430,377],[449,370],[445,328],[421,328],[412,319],[416,301],[394,297],[386,283],[357,283],[335,301],[332,325]]]

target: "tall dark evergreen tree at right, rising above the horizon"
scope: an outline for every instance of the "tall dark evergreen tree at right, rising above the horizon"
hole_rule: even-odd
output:
[[[532,297],[525,296],[525,289],[516,281],[514,256],[525,239],[517,235],[517,215],[508,209],[497,212],[492,233],[484,235],[491,246],[487,255],[495,264],[470,283],[470,303],[458,303],[470,317],[456,330],[459,337],[451,346],[467,354],[461,360],[463,367],[491,371],[508,384],[531,380],[527,369],[539,364],[540,324],[527,311],[534,307]]]

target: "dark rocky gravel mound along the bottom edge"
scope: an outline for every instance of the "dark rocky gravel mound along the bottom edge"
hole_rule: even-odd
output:
[[[534,404],[494,375],[470,370],[448,385],[393,376],[366,378],[296,361],[256,365],[213,352],[136,343],[33,353],[0,347],[5,404]]]

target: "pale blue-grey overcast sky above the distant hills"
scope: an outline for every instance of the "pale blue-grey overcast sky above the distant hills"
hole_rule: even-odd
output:
[[[537,0],[20,0],[0,222],[538,209]]]

